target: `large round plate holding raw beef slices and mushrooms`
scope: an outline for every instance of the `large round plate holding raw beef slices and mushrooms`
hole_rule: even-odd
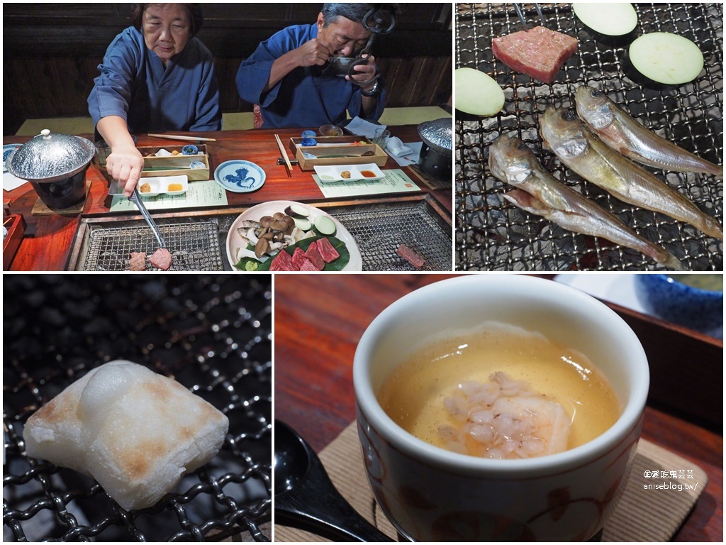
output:
[[[229,233],[227,233],[227,244],[225,245],[227,248],[227,260],[229,261],[229,265],[232,265],[232,270],[237,270],[234,268],[234,264],[237,263],[237,249],[244,244],[240,237],[240,233],[237,233],[237,227],[239,227],[245,219],[258,221],[258,219],[263,216],[272,216],[275,212],[284,212],[287,206],[290,206],[291,204],[296,204],[298,206],[302,206],[304,209],[307,209],[307,211],[310,212],[308,219],[311,221],[318,216],[327,216],[333,219],[333,222],[335,223],[335,238],[343,241],[348,248],[348,253],[351,254],[351,259],[348,261],[348,265],[346,265],[343,270],[363,270],[361,251],[358,248],[358,244],[356,244],[353,235],[351,235],[346,227],[344,227],[343,224],[333,216],[327,214],[321,209],[310,206],[309,204],[295,203],[294,201],[270,201],[269,203],[261,203],[245,210],[237,217],[237,219],[234,220],[232,227],[229,227]]]

